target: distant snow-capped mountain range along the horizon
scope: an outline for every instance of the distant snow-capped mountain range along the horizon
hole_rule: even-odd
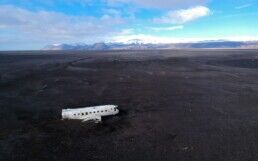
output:
[[[129,43],[95,43],[95,44],[53,44],[43,50],[129,50],[129,49],[190,49],[190,48],[258,48],[258,42],[242,41],[202,41],[195,43],[155,44],[130,41]]]

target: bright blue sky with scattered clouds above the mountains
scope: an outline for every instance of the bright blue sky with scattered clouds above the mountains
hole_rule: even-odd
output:
[[[0,50],[133,39],[146,43],[258,40],[258,1],[0,1]]]

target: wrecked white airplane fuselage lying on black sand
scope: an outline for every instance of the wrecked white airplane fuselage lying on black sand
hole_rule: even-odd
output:
[[[117,105],[103,105],[93,107],[83,107],[77,109],[63,109],[63,119],[77,119],[83,121],[101,121],[102,116],[116,115],[119,113]]]

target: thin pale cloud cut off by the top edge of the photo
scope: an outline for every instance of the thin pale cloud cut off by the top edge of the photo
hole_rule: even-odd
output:
[[[111,4],[132,3],[149,8],[179,8],[204,5],[208,0],[106,0]]]

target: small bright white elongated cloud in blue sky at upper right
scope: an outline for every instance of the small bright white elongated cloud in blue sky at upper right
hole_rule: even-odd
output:
[[[165,16],[154,19],[157,23],[168,24],[184,24],[186,22],[197,20],[201,17],[211,14],[209,8],[204,6],[197,6],[188,9],[169,11]]]

